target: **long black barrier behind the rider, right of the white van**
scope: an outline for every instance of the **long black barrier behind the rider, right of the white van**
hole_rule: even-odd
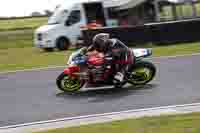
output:
[[[84,45],[91,44],[98,33],[110,33],[126,44],[170,44],[200,41],[200,18],[151,23],[142,26],[103,27],[83,30]]]

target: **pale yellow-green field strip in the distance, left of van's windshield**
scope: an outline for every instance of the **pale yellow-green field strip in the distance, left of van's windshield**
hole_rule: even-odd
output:
[[[47,17],[0,20],[0,31],[34,29],[47,23]]]

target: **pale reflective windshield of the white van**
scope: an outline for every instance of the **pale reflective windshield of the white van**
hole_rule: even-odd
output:
[[[56,10],[54,14],[49,18],[48,24],[60,24],[65,16],[67,15],[68,10]]]

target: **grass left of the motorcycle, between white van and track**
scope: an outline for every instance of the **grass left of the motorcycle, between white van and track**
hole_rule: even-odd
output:
[[[36,48],[0,50],[0,71],[65,65],[71,51],[44,52]]]

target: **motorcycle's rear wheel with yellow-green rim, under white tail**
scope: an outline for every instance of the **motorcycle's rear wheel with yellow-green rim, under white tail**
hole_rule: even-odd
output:
[[[156,67],[153,63],[141,61],[129,69],[128,82],[133,85],[145,85],[153,80],[156,75]]]

